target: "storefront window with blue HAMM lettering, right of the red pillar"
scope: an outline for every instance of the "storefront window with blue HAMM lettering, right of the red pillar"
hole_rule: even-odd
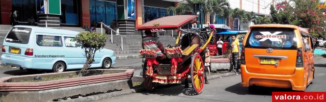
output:
[[[106,25],[117,19],[117,3],[99,0],[90,0],[91,22],[103,21]]]

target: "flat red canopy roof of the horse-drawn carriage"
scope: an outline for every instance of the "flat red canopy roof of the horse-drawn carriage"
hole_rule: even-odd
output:
[[[192,21],[197,15],[175,15],[167,16],[158,19],[148,21],[136,29],[145,30],[145,29],[177,29],[183,24]],[[197,20],[197,19],[196,19]]]

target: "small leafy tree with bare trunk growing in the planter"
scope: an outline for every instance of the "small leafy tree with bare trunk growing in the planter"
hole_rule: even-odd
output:
[[[85,52],[86,62],[78,74],[79,77],[86,76],[88,68],[94,62],[96,50],[105,46],[106,36],[104,34],[97,34],[95,32],[79,33],[76,36],[77,46],[82,47]]]

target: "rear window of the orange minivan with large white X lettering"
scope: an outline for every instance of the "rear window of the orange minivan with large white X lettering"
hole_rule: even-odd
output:
[[[296,49],[294,30],[286,28],[254,28],[249,33],[246,47]]]

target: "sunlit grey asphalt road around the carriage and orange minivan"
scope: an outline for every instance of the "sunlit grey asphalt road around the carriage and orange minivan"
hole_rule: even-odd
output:
[[[315,59],[316,78],[306,91],[326,91],[326,58]],[[98,100],[104,101],[271,101],[273,91],[291,91],[290,89],[260,87],[256,92],[249,93],[248,88],[240,86],[240,75],[210,80],[205,85],[203,93],[192,95],[189,89],[183,86],[159,88],[154,93],[141,92],[114,98]]]

